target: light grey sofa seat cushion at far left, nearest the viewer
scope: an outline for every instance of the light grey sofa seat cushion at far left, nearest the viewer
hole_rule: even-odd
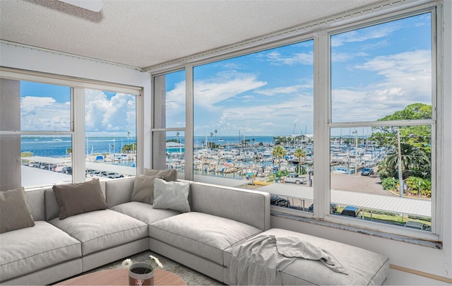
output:
[[[0,234],[0,254],[0,281],[5,281],[80,258],[82,251],[69,234],[38,220],[34,227]]]

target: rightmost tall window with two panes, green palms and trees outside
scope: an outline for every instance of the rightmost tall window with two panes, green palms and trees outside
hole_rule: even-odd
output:
[[[431,13],[331,35],[331,213],[432,231],[432,56]]]

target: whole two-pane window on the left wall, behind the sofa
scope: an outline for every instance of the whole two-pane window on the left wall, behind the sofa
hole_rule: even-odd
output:
[[[139,88],[9,68],[0,81],[0,189],[136,174]]]

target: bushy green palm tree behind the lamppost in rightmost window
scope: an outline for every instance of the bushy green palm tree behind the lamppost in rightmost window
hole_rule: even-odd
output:
[[[410,177],[410,169],[421,169],[425,165],[430,165],[430,158],[423,150],[407,143],[400,143],[400,158],[404,179]],[[396,170],[398,168],[398,150],[390,153],[385,161],[386,169]]]

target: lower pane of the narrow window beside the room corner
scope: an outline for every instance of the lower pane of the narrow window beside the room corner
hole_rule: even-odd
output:
[[[183,131],[158,131],[153,134],[154,169],[185,172],[185,136]],[[165,142],[165,145],[162,144]]]

